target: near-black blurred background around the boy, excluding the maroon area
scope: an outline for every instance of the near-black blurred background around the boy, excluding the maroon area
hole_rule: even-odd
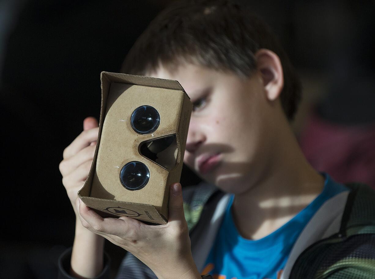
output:
[[[53,278],[74,213],[58,164],[99,118],[100,72],[169,1],[0,1],[0,278]],[[375,121],[373,1],[246,1],[278,34],[305,87],[297,135],[313,110],[346,126]],[[184,169],[183,185],[196,178]],[[115,272],[124,251],[107,243]]]

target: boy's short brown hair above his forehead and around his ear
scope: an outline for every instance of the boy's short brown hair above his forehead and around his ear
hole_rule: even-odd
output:
[[[289,120],[301,97],[300,81],[266,23],[229,0],[184,0],[166,7],[139,36],[121,72],[145,75],[160,63],[169,69],[188,62],[249,77],[257,68],[255,52],[270,49],[281,60],[281,104]]]

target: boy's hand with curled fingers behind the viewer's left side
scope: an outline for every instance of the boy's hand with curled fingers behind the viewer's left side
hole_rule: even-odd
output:
[[[63,160],[60,162],[59,169],[63,175],[63,185],[68,193],[77,219],[79,219],[75,210],[75,200],[78,191],[83,187],[90,167],[94,159],[96,141],[99,132],[98,120],[94,117],[87,117],[83,120],[83,132],[74,139],[74,141],[65,148]]]

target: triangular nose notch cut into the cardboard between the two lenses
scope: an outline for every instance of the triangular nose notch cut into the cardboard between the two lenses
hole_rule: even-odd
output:
[[[139,144],[138,151],[139,154],[168,171],[174,169],[180,159],[176,134],[143,141]]]

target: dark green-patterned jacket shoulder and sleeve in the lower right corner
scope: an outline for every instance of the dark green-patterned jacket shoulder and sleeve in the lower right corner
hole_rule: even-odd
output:
[[[303,251],[285,278],[374,278],[375,190],[360,183],[350,190],[339,231]]]

